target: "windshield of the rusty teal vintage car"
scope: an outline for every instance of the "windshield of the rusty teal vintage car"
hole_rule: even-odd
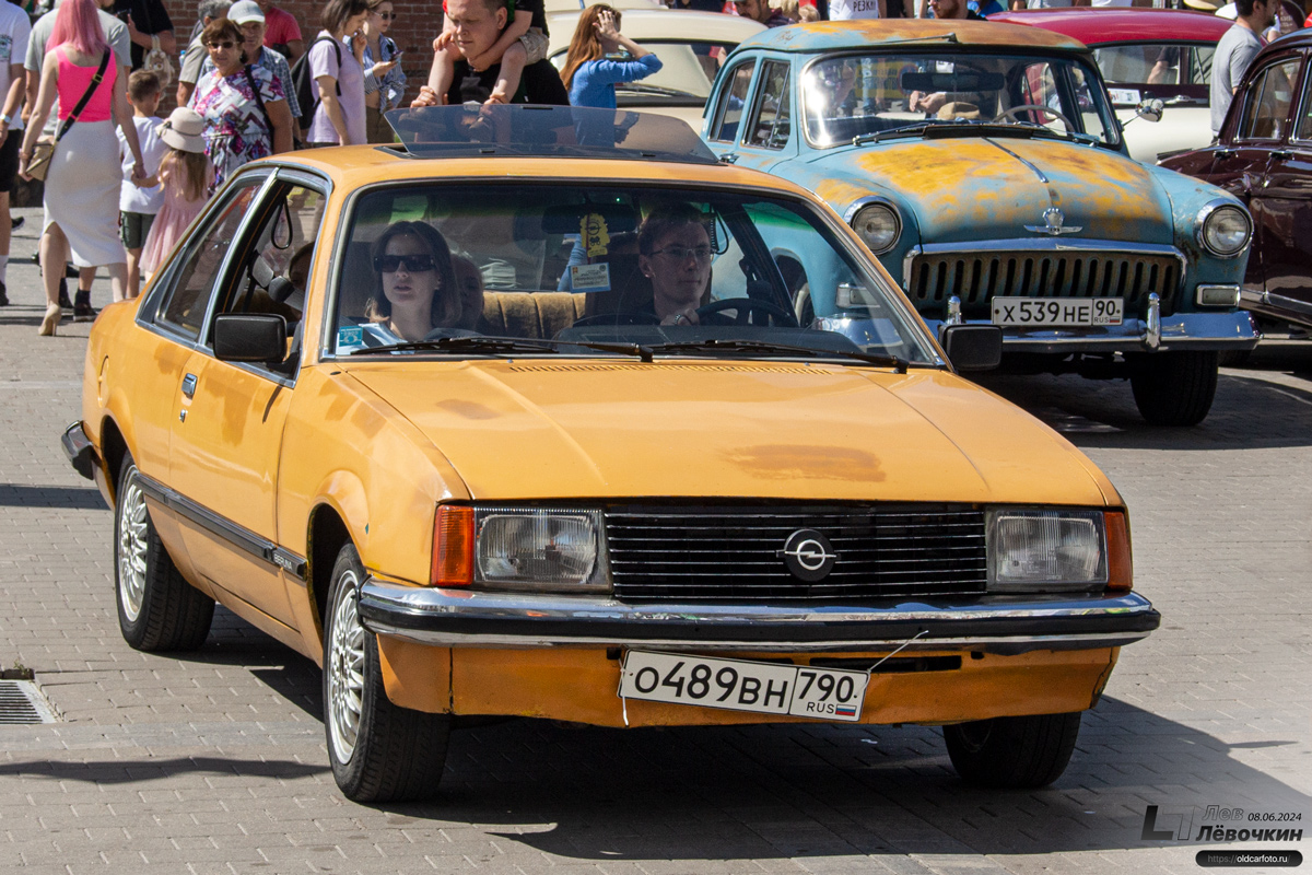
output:
[[[996,122],[1119,142],[1098,73],[1080,60],[1033,55],[838,55],[807,67],[807,139],[838,146],[926,125]]]

